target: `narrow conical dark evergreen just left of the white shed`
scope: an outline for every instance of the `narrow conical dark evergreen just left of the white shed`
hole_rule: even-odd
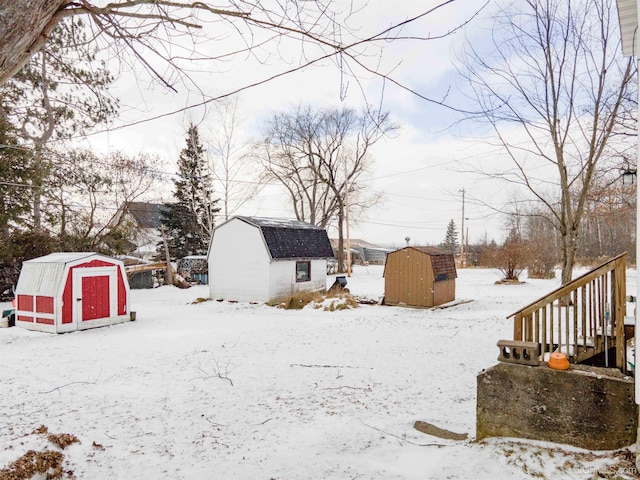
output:
[[[178,158],[178,178],[174,180],[174,203],[165,204],[161,213],[172,259],[204,255],[220,211],[214,199],[211,170],[200,143],[198,127],[191,124],[186,146]],[[159,246],[162,250],[162,245]]]

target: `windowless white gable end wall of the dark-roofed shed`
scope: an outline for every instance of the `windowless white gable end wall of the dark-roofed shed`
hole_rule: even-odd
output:
[[[214,300],[269,300],[269,254],[259,229],[232,219],[216,228],[209,250],[209,291]]]

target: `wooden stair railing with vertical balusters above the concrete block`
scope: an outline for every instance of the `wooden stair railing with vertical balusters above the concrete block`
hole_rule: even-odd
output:
[[[572,363],[616,347],[615,366],[626,371],[626,256],[612,258],[509,315],[513,339],[539,343],[542,360],[546,353],[560,351]]]

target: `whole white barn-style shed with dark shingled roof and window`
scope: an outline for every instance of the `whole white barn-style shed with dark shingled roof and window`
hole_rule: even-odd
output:
[[[207,257],[211,298],[268,302],[324,290],[333,251],[310,223],[238,216],[215,228]]]

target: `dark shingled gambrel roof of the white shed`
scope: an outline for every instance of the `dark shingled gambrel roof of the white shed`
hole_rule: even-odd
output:
[[[273,259],[333,258],[327,232],[298,220],[236,217],[260,229]]]

